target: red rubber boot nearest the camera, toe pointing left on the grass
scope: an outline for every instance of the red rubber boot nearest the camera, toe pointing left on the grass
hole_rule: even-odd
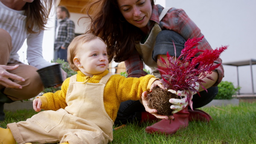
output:
[[[185,107],[181,111],[173,114],[174,120],[163,119],[151,126],[146,127],[145,131],[148,133],[164,133],[166,135],[172,135],[180,128],[185,128],[189,125],[189,111],[188,107]]]

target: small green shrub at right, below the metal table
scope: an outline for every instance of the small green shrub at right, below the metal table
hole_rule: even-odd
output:
[[[240,87],[235,88],[232,82],[221,81],[218,85],[218,94],[214,99],[232,99],[233,95],[240,89]]]

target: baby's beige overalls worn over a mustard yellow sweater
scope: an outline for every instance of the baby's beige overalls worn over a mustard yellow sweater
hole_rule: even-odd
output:
[[[113,121],[103,102],[105,84],[110,76],[105,75],[98,84],[84,84],[77,82],[73,75],[65,109],[39,112],[26,121],[8,124],[17,143],[107,144],[112,141]]]

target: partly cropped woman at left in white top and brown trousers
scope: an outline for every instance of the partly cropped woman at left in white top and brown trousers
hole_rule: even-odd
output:
[[[5,103],[33,98],[43,90],[36,71],[55,64],[44,60],[42,41],[49,12],[58,2],[0,0],[0,121],[5,118]],[[29,65],[21,63],[17,54],[25,39]],[[62,76],[67,77],[64,70]]]

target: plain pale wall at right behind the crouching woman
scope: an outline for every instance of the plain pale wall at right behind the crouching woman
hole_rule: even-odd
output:
[[[165,2],[165,3],[164,3]],[[229,45],[221,54],[223,63],[256,60],[256,0],[156,0],[165,7],[185,10],[213,49]],[[236,66],[224,65],[223,81],[237,86]],[[239,66],[241,93],[252,93],[250,66]],[[256,92],[256,65],[253,65]]]

